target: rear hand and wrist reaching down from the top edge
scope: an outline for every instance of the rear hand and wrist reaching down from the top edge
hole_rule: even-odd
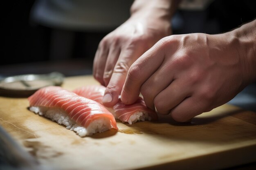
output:
[[[107,87],[103,104],[117,103],[131,64],[158,40],[171,35],[171,16],[179,1],[135,0],[130,18],[101,40],[93,75]]]

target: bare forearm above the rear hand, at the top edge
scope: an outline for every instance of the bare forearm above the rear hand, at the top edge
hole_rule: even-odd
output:
[[[131,16],[146,16],[171,20],[181,0],[135,0],[130,9]]]

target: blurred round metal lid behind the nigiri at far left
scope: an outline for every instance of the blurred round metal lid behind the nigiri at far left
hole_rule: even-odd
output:
[[[28,97],[39,88],[45,86],[60,86],[64,75],[58,72],[37,75],[16,75],[0,81],[0,95],[7,97]]]

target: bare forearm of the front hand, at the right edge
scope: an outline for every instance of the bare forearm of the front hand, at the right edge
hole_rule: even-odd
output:
[[[256,81],[256,20],[230,32],[238,39],[239,56],[247,82]]]

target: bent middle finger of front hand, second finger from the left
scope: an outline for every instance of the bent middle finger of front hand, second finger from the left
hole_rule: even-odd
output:
[[[140,92],[143,95],[145,104],[152,110],[155,109],[155,97],[173,81],[173,74],[169,73],[168,67],[169,64],[164,61],[157,71],[141,86]],[[167,97],[167,99],[169,98]]]

